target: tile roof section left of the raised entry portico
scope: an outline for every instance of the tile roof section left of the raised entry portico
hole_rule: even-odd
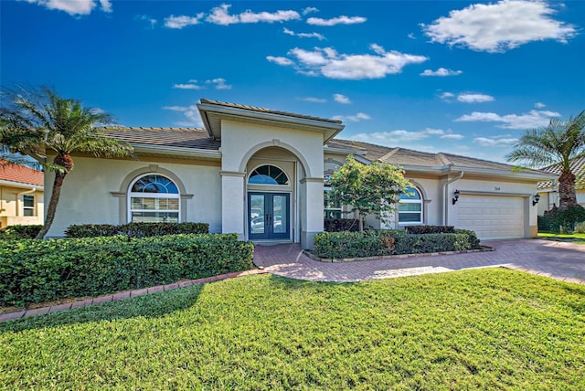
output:
[[[128,143],[142,143],[178,148],[196,148],[217,151],[221,142],[209,137],[202,128],[104,128],[105,134]]]

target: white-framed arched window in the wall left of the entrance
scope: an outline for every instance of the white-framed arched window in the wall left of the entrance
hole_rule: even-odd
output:
[[[145,223],[178,223],[179,190],[161,174],[144,174],[130,184],[128,221]]]

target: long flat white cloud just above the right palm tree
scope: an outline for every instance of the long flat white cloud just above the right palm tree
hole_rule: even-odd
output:
[[[499,115],[495,112],[473,111],[471,114],[465,114],[455,122],[502,122],[497,125],[498,128],[504,129],[533,129],[547,126],[552,117],[560,117],[558,112],[554,111],[536,111],[532,110],[524,114],[507,114]]]

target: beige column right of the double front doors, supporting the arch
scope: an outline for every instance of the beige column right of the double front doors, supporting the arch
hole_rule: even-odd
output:
[[[313,249],[315,234],[323,232],[323,178],[301,180],[301,247]]]

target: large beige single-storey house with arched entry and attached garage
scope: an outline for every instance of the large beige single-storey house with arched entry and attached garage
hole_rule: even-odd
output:
[[[349,153],[365,164],[400,164],[406,170],[415,192],[401,202],[392,227],[454,225],[484,239],[537,234],[532,200],[537,183],[550,180],[549,174],[337,140],[344,129],[337,120],[216,100],[200,100],[197,107],[204,129],[108,130],[133,144],[135,160],[75,156],[48,237],[63,236],[71,224],[195,221],[240,239],[312,248],[324,214],[341,208],[324,205],[324,175]],[[52,179],[46,174],[47,184]],[[383,227],[373,218],[367,223]]]

